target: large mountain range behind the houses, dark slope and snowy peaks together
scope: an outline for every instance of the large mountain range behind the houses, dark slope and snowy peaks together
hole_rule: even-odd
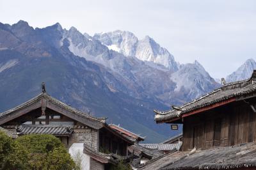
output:
[[[179,132],[156,125],[153,109],[168,109],[219,86],[197,61],[180,65],[148,36],[127,31],[90,36],[60,24],[0,23],[0,111],[40,93],[108,117],[147,143]]]

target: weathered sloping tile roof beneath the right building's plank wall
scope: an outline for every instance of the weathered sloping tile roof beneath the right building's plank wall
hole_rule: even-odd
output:
[[[172,159],[172,155],[169,155]],[[256,167],[256,144],[196,150],[159,169],[233,169]]]

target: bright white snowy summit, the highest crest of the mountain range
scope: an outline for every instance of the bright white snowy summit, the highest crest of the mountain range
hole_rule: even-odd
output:
[[[161,47],[149,36],[143,40],[129,31],[113,31],[103,34],[95,34],[93,38],[99,40],[109,49],[121,52],[124,56],[134,56],[141,61],[150,61],[165,66],[168,70],[175,72],[178,70],[172,54]]]

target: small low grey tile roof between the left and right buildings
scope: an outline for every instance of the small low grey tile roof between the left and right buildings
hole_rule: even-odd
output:
[[[157,149],[161,151],[180,150],[181,145],[182,142],[173,144],[140,144],[140,146],[143,146],[145,148]]]

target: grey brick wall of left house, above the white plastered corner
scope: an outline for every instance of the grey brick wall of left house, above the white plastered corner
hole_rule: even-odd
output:
[[[93,150],[99,150],[99,131],[87,126],[74,127],[74,132],[68,141],[68,146],[73,143],[85,143],[91,146]]]

